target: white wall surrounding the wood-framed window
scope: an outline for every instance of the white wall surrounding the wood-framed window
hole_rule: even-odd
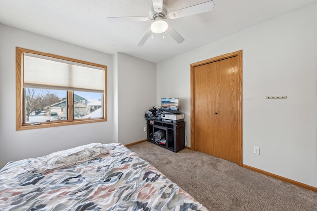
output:
[[[107,122],[15,130],[15,47],[107,66]],[[43,156],[82,144],[110,143],[113,130],[112,56],[0,24],[0,168],[8,161]]]

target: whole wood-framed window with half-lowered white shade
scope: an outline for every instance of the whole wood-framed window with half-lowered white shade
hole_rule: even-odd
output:
[[[106,121],[107,67],[16,47],[16,129]]]

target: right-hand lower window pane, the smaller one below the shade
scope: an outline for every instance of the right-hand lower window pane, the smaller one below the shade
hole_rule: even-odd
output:
[[[103,94],[74,91],[74,119],[103,117]]]

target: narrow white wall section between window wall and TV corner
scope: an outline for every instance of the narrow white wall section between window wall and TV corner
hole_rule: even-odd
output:
[[[124,53],[118,61],[118,142],[147,138],[145,111],[156,104],[156,64]]]

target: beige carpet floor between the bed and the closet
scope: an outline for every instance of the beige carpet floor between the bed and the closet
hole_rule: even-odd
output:
[[[128,147],[210,211],[317,211],[317,193],[198,151]]]

